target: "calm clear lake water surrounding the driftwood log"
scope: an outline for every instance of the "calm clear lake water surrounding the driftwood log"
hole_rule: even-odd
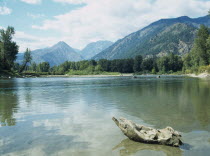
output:
[[[130,141],[112,116],[171,126],[185,145]],[[209,155],[210,81],[183,77],[0,80],[0,155]]]

